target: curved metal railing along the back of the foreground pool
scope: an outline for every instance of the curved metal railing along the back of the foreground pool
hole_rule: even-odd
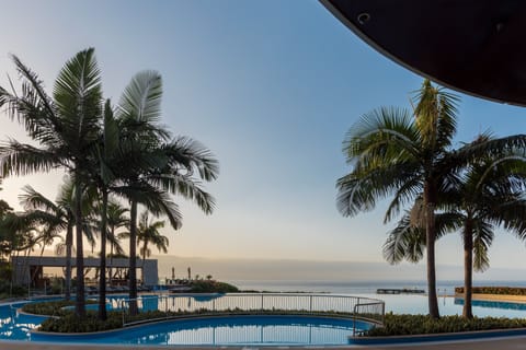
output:
[[[130,305],[139,311],[159,311],[162,319],[187,313],[295,313],[342,315],[384,322],[385,303],[380,300],[333,294],[231,293],[142,295],[135,300],[112,300],[112,308],[122,310],[123,327],[136,324],[129,317]],[[356,322],[355,322],[356,324]]]

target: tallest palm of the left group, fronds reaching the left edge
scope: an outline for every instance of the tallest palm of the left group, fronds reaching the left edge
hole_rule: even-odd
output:
[[[82,243],[82,190],[90,149],[98,141],[102,114],[100,71],[94,49],[78,52],[66,62],[55,81],[53,97],[38,75],[13,56],[22,79],[22,93],[0,88],[0,106],[20,120],[38,147],[9,140],[0,148],[2,176],[67,170],[75,183],[73,214],[77,243],[76,313],[85,316]]]

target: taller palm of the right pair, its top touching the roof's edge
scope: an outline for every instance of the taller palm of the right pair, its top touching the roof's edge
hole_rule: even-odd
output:
[[[425,80],[413,101],[413,113],[375,109],[350,129],[343,150],[353,170],[338,180],[338,208],[343,215],[352,217],[393,195],[385,217],[389,221],[423,192],[428,308],[437,318],[435,203],[439,188],[450,180],[442,162],[455,135],[458,97]]]

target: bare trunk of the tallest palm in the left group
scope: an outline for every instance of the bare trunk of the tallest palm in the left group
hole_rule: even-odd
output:
[[[80,166],[79,166],[80,167]],[[77,298],[75,312],[77,316],[85,317],[85,296],[84,296],[84,252],[82,244],[82,190],[80,188],[80,174],[76,174],[75,179],[75,225],[77,231]]]

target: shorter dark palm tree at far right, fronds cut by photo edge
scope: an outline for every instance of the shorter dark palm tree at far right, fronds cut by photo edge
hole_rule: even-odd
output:
[[[521,153],[524,153],[521,152]],[[504,226],[516,236],[524,236],[526,214],[526,163],[524,155],[510,154],[472,162],[458,188],[447,191],[448,211],[462,222],[464,241],[464,310],[472,318],[472,270],[489,267],[488,248],[494,230]],[[474,261],[473,261],[474,253]]]

